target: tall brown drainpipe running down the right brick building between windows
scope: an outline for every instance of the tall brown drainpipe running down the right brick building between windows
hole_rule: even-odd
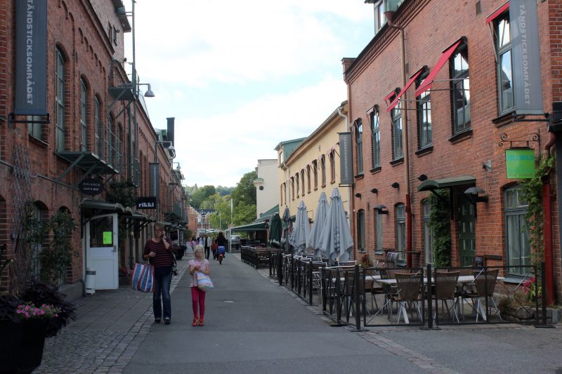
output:
[[[406,86],[406,44],[404,27],[394,25],[393,11],[384,12],[388,27],[391,29],[398,29],[400,32],[400,52],[402,54],[402,86]],[[406,266],[412,267],[412,207],[410,206],[410,158],[408,147],[408,107],[407,107],[407,92],[403,94],[402,100],[402,147],[404,149],[404,180],[405,180],[405,211],[406,211]]]

